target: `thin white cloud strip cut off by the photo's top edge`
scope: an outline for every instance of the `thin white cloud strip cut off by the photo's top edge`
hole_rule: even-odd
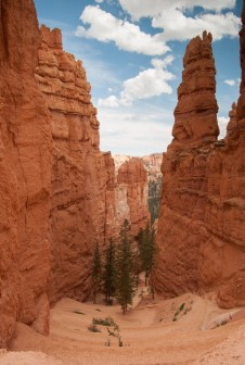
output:
[[[205,10],[221,11],[235,7],[235,0],[119,0],[119,2],[134,20],[158,16],[164,12],[167,13],[169,9],[188,10],[202,7]],[[175,26],[176,22],[172,23]]]

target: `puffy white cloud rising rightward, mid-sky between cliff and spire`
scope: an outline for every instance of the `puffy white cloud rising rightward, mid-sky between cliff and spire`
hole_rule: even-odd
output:
[[[111,96],[106,99],[99,99],[99,106],[117,108],[119,105],[131,105],[134,100],[150,99],[163,93],[172,93],[172,88],[168,84],[175,76],[167,66],[173,61],[172,55],[165,59],[153,59],[152,68],[140,72],[136,77],[124,81],[120,97]]]

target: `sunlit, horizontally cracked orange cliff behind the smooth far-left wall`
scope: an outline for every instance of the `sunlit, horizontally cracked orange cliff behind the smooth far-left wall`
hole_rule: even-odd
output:
[[[99,122],[80,61],[63,51],[59,29],[41,27],[36,79],[52,116],[52,256],[49,297],[83,300],[93,247],[106,240],[111,155],[99,149]],[[113,189],[108,181],[108,189]]]

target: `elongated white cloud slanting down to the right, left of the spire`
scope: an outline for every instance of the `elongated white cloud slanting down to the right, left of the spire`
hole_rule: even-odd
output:
[[[159,55],[169,51],[169,47],[157,36],[143,33],[139,26],[124,22],[99,7],[86,7],[80,20],[89,27],[78,26],[78,37],[94,38],[103,42],[114,41],[121,50],[147,55]]]

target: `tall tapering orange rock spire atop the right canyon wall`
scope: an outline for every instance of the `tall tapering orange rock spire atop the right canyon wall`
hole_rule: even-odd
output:
[[[175,110],[175,142],[190,143],[205,137],[215,140],[219,134],[211,40],[211,34],[204,32],[203,38],[193,38],[186,47]]]

